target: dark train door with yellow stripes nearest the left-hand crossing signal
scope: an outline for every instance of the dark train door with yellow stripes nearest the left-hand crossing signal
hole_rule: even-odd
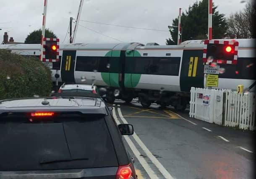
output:
[[[74,68],[76,50],[63,50],[61,63],[61,79],[64,83],[75,83]]]

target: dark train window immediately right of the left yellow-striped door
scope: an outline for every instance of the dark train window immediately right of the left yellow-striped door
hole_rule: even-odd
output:
[[[98,69],[98,61],[100,57],[76,57],[76,71],[93,72]]]

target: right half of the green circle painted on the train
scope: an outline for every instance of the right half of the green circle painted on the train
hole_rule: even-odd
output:
[[[141,57],[141,54],[136,50],[127,50],[125,52],[125,57]],[[128,62],[128,61],[126,61]],[[128,65],[128,64],[126,64]],[[129,62],[131,67],[134,67],[134,61]],[[133,65],[133,66],[132,66]],[[131,74],[125,73],[125,87],[126,88],[135,88],[138,85],[139,80],[141,79],[141,74]]]

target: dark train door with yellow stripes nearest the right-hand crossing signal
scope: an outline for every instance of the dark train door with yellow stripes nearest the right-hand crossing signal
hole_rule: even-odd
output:
[[[204,88],[202,50],[183,50],[180,71],[180,90],[189,92],[191,87]]]

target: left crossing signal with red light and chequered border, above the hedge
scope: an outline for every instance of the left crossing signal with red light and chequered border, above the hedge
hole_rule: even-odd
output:
[[[58,62],[60,40],[57,38],[43,39],[43,62]]]

